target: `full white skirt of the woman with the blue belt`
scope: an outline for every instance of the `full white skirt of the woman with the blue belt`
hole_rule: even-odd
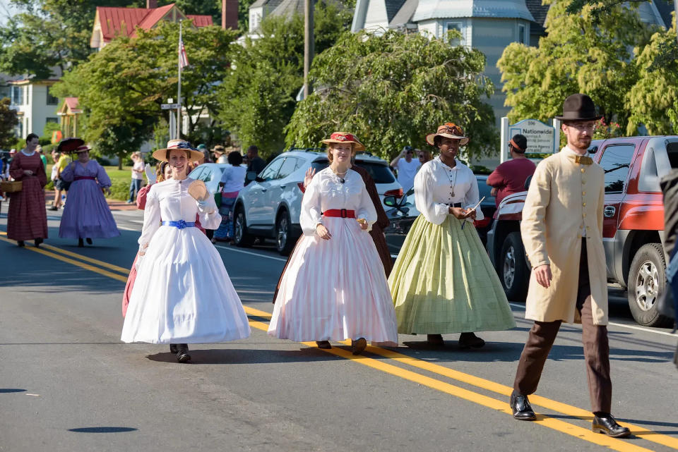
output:
[[[249,336],[224,262],[198,228],[160,226],[141,257],[121,341],[215,343]]]

